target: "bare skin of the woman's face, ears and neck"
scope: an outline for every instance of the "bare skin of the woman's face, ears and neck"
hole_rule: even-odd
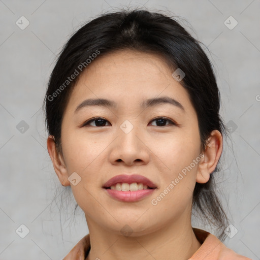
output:
[[[49,136],[47,148],[63,186],[71,185],[84,211],[91,249],[86,259],[178,259],[184,260],[201,246],[191,226],[192,191],[196,182],[206,183],[222,152],[222,136],[213,131],[204,158],[158,202],[152,199],[178,177],[201,153],[199,125],[188,92],[172,77],[161,57],[133,50],[120,50],[96,58],[79,78],[70,96],[61,126],[62,154]],[[143,109],[143,100],[170,96],[180,108],[163,104]],[[89,98],[105,98],[116,108],[76,107]],[[104,126],[93,117],[102,117]],[[166,117],[176,122],[154,120]],[[125,134],[120,125],[128,120],[134,128]],[[72,185],[68,177],[76,172],[81,181]],[[140,174],[157,188],[138,202],[113,199],[102,186],[119,174]],[[129,225],[131,236],[120,230]],[[84,239],[71,258],[84,259]],[[74,254],[74,256],[73,256]],[[80,256],[81,255],[81,256]],[[79,259],[79,258],[77,258]]]

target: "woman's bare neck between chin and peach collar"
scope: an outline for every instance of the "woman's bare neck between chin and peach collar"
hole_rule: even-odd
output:
[[[126,237],[86,219],[91,243],[87,260],[187,260],[201,246],[190,221],[183,223],[180,219],[149,234],[140,236],[133,232]]]

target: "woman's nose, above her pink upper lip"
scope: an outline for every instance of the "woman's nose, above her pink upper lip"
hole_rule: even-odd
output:
[[[134,127],[131,132],[125,133],[120,128],[117,138],[112,143],[109,159],[111,164],[124,164],[127,166],[148,164],[150,153],[144,135],[138,133]]]

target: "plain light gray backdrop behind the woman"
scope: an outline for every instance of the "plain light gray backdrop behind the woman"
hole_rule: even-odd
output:
[[[75,220],[70,219],[75,201],[66,197],[69,190],[60,194],[64,188],[47,152],[41,105],[55,55],[69,36],[85,21],[125,5],[169,10],[185,18],[194,31],[185,21],[182,24],[209,48],[206,53],[221,92],[221,115],[233,141],[233,149],[232,144],[224,147],[220,191],[238,233],[233,237],[229,233],[232,238],[225,244],[260,259],[259,0],[0,0],[0,259],[61,259],[88,233],[81,209]],[[29,21],[23,30],[16,25],[21,16]],[[224,23],[230,16],[238,22],[233,29]],[[54,196],[57,205],[51,203]],[[65,203],[61,221],[60,199]],[[21,224],[30,231],[25,238],[18,236],[25,232]]]

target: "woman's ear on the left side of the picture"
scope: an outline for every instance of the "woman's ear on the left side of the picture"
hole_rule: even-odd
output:
[[[68,171],[66,165],[64,164],[64,159],[62,155],[60,153],[57,153],[56,151],[55,141],[53,136],[49,136],[47,139],[47,149],[51,157],[54,170],[59,178],[60,183],[62,184],[62,186],[69,186],[70,182],[68,180],[69,177]]]

